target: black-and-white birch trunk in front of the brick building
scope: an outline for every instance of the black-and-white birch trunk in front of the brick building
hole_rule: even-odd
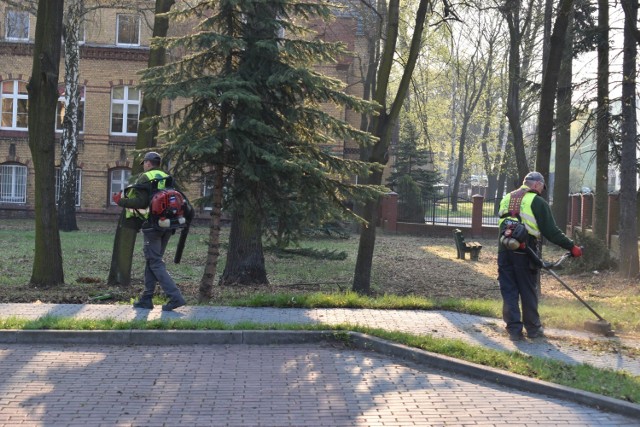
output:
[[[76,175],[78,173],[78,105],[80,103],[80,45],[83,1],[67,0],[64,22],[64,120],[60,150],[60,195],[58,226],[62,231],[78,230],[76,220]]]

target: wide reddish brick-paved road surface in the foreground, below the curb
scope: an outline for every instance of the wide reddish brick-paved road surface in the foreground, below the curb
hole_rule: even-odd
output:
[[[3,426],[637,426],[327,344],[0,344]]]

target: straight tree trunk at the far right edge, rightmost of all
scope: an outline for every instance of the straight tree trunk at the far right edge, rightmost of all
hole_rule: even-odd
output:
[[[635,32],[638,0],[623,0],[624,47],[622,59],[622,162],[620,165],[620,272],[638,275],[638,191],[636,154],[636,75],[638,46]]]

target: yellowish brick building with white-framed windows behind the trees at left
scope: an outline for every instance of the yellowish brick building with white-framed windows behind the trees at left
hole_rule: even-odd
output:
[[[80,217],[119,213],[110,194],[123,189],[131,175],[143,96],[136,89],[137,72],[147,66],[155,2],[138,3],[147,4],[149,9],[137,12],[97,9],[85,16],[80,49],[82,99],[76,196]],[[36,18],[27,12],[7,8],[3,3],[0,3],[0,17],[0,217],[24,217],[31,216],[34,211],[26,85],[33,61]],[[341,40],[350,50],[360,50],[358,22],[352,14],[340,15],[330,27],[318,30],[324,39]],[[351,93],[361,95],[360,65],[353,57],[344,57],[338,64],[320,67],[320,71],[341,79]],[[64,62],[61,60],[59,125],[64,115],[63,78]],[[169,111],[171,104],[166,103],[163,108]],[[332,113],[338,117],[356,125],[359,123],[359,117],[352,112],[327,108],[332,108]],[[61,132],[56,135],[59,138]],[[330,149],[336,155],[350,157],[357,156],[358,152],[357,147],[347,142]],[[59,144],[56,150],[59,153]],[[57,168],[59,154],[56,159]],[[203,183],[193,182],[187,193],[191,199],[196,199],[204,191]]]

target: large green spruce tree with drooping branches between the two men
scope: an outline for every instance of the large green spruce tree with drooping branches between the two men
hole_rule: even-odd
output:
[[[331,17],[327,3],[202,1],[172,13],[174,19],[198,16],[202,19],[193,34],[157,41],[184,55],[145,71],[142,81],[143,90],[155,97],[188,100],[167,117],[170,126],[160,135],[168,142],[162,150],[175,165],[174,175],[229,171],[227,208],[236,221],[255,227],[254,243],[267,218],[281,218],[293,208],[309,212],[379,194],[375,186],[345,179],[366,174],[367,164],[325,149],[344,139],[362,144],[372,139],[325,112],[323,104],[359,112],[373,107],[345,94],[339,80],[311,68],[345,54],[341,45],[314,39],[308,30],[311,19]],[[284,222],[280,231],[294,233],[300,225]],[[260,252],[261,246],[254,249]],[[229,258],[226,268],[234,273],[224,282],[265,282],[264,266],[256,265],[264,263],[264,257],[253,255],[243,255],[253,261],[239,269],[242,256]]]

